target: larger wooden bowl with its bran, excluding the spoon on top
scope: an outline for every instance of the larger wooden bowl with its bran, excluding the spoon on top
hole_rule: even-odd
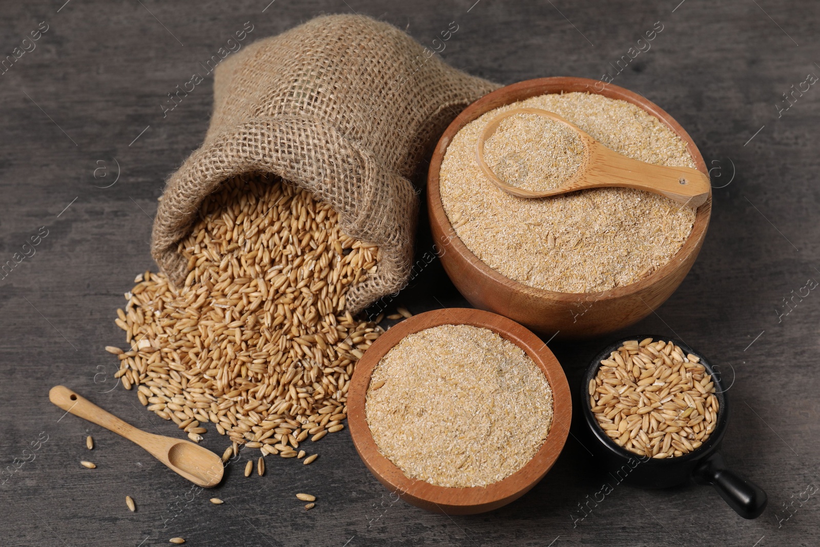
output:
[[[513,103],[556,112],[626,156],[707,173],[672,116],[637,93],[594,84],[543,78],[485,95],[444,132],[427,179],[431,230],[459,291],[477,308],[561,338],[617,330],[663,303],[695,262],[712,205],[711,196],[694,210],[621,188],[516,198],[486,180],[477,134]],[[515,173],[517,163],[508,155],[499,166]]]

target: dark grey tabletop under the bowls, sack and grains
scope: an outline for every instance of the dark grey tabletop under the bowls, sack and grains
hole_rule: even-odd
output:
[[[820,545],[820,296],[811,289],[820,280],[816,3],[4,0],[0,7],[0,58],[19,56],[0,75],[0,262],[30,255],[0,279],[0,545],[147,547],[170,545],[173,536],[186,545]],[[123,342],[113,319],[135,274],[156,270],[148,239],[157,197],[203,139],[212,80],[173,111],[163,114],[162,105],[246,21],[258,39],[321,13],[352,12],[427,45],[455,21],[441,57],[503,84],[608,74],[689,131],[712,170],[711,226],[680,289],[630,331],[676,335],[735,372],[722,452],[768,491],[761,517],[745,521],[696,485],[617,485],[602,499],[597,493],[610,479],[575,436],[516,502],[471,517],[426,513],[376,482],[346,431],[318,443],[321,458],[310,467],[276,458],[266,476],[249,479],[240,466],[228,467],[213,494],[225,504],[216,506],[207,503],[210,492],[127,440],[48,402],[48,389],[66,384],[135,425],[179,435],[145,412],[133,391],[115,387],[116,360],[103,350]],[[663,30],[631,58],[654,26]],[[39,39],[24,41],[31,33]],[[630,62],[617,71],[625,55]],[[426,219],[420,226],[423,253]],[[37,244],[24,247],[32,238]],[[412,312],[467,305],[437,261],[398,300]],[[576,383],[613,337],[549,345]],[[93,456],[84,447],[89,434]],[[221,452],[225,438],[206,437],[205,446]],[[97,469],[80,467],[83,458]],[[317,494],[317,507],[306,512],[296,491]]]

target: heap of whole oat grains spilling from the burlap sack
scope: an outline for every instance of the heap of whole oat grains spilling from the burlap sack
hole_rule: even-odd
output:
[[[344,307],[378,248],[344,235],[330,206],[262,175],[225,182],[199,214],[180,244],[185,286],[145,272],[117,310],[131,346],[107,348],[117,377],[192,440],[212,422],[234,454],[247,444],[302,458],[308,436],[344,427],[353,366],[380,335]]]

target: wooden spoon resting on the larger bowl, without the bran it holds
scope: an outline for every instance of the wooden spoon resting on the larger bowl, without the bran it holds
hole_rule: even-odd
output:
[[[545,116],[567,125],[569,129],[578,134],[581,143],[584,145],[584,158],[581,160],[578,171],[565,180],[562,185],[559,185],[558,188],[535,192],[508,185],[500,180],[484,161],[485,141],[498,129],[503,120],[522,113]],[[519,198],[545,198],[575,192],[576,190],[620,186],[662,194],[678,203],[684,203],[690,207],[699,207],[706,201],[711,190],[708,176],[697,169],[659,166],[623,156],[600,144],[589,134],[564,120],[558,114],[540,108],[513,108],[494,117],[478,138],[476,159],[478,165],[481,166],[481,171],[484,171],[484,174],[494,185]]]

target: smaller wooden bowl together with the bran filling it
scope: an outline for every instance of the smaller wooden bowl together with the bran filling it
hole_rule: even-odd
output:
[[[561,365],[530,330],[445,308],[379,340],[353,374],[348,427],[390,492],[436,513],[483,513],[526,494],[553,466],[572,402]]]

